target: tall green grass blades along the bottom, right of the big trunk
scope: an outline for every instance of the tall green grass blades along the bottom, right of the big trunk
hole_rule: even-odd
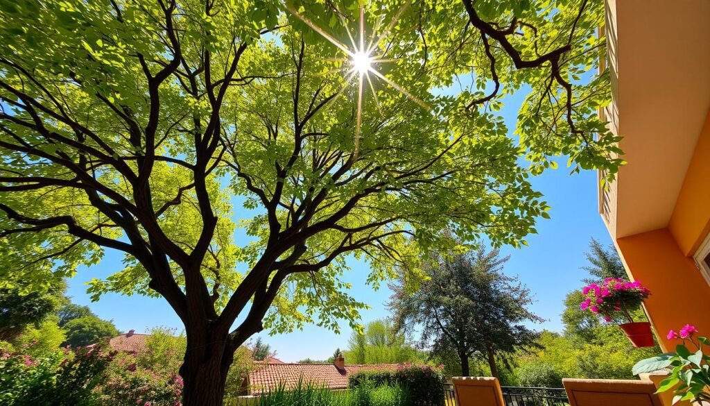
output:
[[[256,397],[253,401],[231,402],[234,406],[409,406],[407,388],[401,385],[371,383],[351,390],[332,391],[314,383],[299,382],[287,390],[284,385]]]

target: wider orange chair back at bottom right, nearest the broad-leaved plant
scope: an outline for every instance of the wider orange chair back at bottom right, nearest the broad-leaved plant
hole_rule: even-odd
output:
[[[563,379],[570,406],[662,406],[650,380]]]

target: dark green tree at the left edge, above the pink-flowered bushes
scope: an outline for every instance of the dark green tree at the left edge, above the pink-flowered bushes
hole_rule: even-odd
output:
[[[18,286],[0,289],[0,341],[12,341],[27,327],[53,314],[63,300],[65,282],[55,282],[38,292]]]

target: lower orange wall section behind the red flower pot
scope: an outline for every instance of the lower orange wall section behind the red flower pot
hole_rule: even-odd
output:
[[[619,238],[617,246],[633,280],[652,292],[645,308],[664,351],[677,342],[670,329],[694,324],[710,336],[710,285],[667,228]]]

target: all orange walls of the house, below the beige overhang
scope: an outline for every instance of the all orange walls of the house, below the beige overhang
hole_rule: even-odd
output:
[[[651,290],[645,308],[664,350],[669,330],[694,324],[710,336],[710,285],[692,256],[710,231],[710,111],[667,228],[618,238],[629,277]]]

